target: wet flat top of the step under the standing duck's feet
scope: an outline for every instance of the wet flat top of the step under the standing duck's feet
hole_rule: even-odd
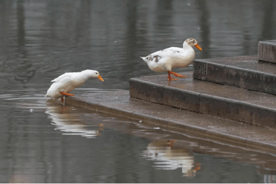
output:
[[[276,95],[196,80],[192,78],[192,73],[181,74],[187,77],[171,82],[166,80],[166,75],[140,77],[136,79],[179,90],[204,93],[276,109]]]

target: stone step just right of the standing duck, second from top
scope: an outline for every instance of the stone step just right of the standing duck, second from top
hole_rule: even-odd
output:
[[[276,64],[257,55],[194,60],[193,72],[194,79],[276,94]]]

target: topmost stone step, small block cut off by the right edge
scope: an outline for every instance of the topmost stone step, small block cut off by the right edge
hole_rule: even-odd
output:
[[[258,60],[276,63],[276,40],[258,43]]]

